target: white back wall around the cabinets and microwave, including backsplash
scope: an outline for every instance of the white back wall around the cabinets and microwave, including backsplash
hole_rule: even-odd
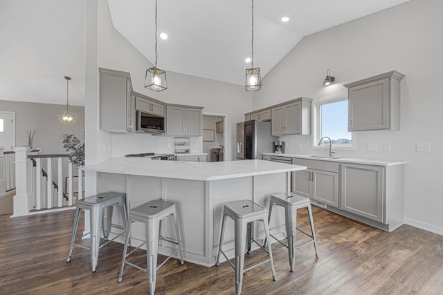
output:
[[[161,68],[161,59],[166,58],[168,57],[161,55],[159,51],[159,68]],[[134,91],[162,102],[204,106],[204,113],[226,113],[228,122],[226,145],[232,149],[230,155],[235,155],[234,144],[230,144],[235,140],[235,123],[243,121],[244,113],[253,107],[252,94],[245,93],[242,86],[173,73],[167,69],[167,90],[156,93],[145,89],[145,71],[152,67],[152,64],[112,27],[109,8],[105,0],[98,0],[98,66],[129,72]],[[101,155],[103,155],[103,148],[106,155],[111,153],[109,156],[143,151],[170,151],[168,144],[173,140],[173,138],[168,139],[162,136],[109,134],[107,131],[98,131],[98,137],[104,139],[108,136],[111,137],[110,140],[108,138],[97,145],[97,151]],[[201,151],[201,137],[193,139],[192,146],[192,151],[195,149]]]

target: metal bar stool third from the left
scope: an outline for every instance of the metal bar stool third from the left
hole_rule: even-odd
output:
[[[221,250],[221,245],[223,245],[224,229],[226,225],[226,216],[232,218],[235,223],[235,266],[233,265],[233,263],[230,262],[228,256],[224,254],[224,251]],[[251,222],[255,220],[261,220],[263,222],[266,238],[269,239],[269,225],[268,222],[266,222],[266,208],[260,206],[259,204],[256,204],[251,200],[228,202],[227,204],[224,205],[223,220],[221,222],[219,253],[217,255],[217,262],[215,263],[215,265],[219,266],[220,253],[223,254],[223,256],[226,258],[230,266],[233,267],[233,269],[235,270],[235,291],[237,295],[239,295],[242,292],[243,273],[248,272],[249,270],[264,263],[267,262],[271,263],[272,278],[273,280],[277,280],[275,276],[271,244],[269,244],[268,249],[266,250],[251,236],[248,236],[247,239],[253,240],[253,242],[259,245],[260,248],[266,251],[269,254],[269,259],[266,259],[261,263],[257,263],[256,265],[248,267],[247,269],[244,269],[244,251],[246,247],[246,234],[247,234],[246,231],[247,228],[251,227]],[[251,234],[251,231],[248,231],[248,234]]]

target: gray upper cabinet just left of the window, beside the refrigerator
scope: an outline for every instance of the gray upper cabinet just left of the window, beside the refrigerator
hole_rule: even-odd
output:
[[[272,135],[311,134],[311,101],[300,97],[271,108]]]

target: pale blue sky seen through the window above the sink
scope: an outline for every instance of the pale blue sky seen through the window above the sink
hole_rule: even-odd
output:
[[[352,143],[352,133],[347,132],[347,100],[321,106],[321,136],[331,137],[336,144]]]

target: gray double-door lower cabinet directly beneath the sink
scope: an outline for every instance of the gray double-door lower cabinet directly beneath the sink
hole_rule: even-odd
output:
[[[292,164],[308,167],[293,173],[293,192],[338,207],[338,163],[293,158]]]

